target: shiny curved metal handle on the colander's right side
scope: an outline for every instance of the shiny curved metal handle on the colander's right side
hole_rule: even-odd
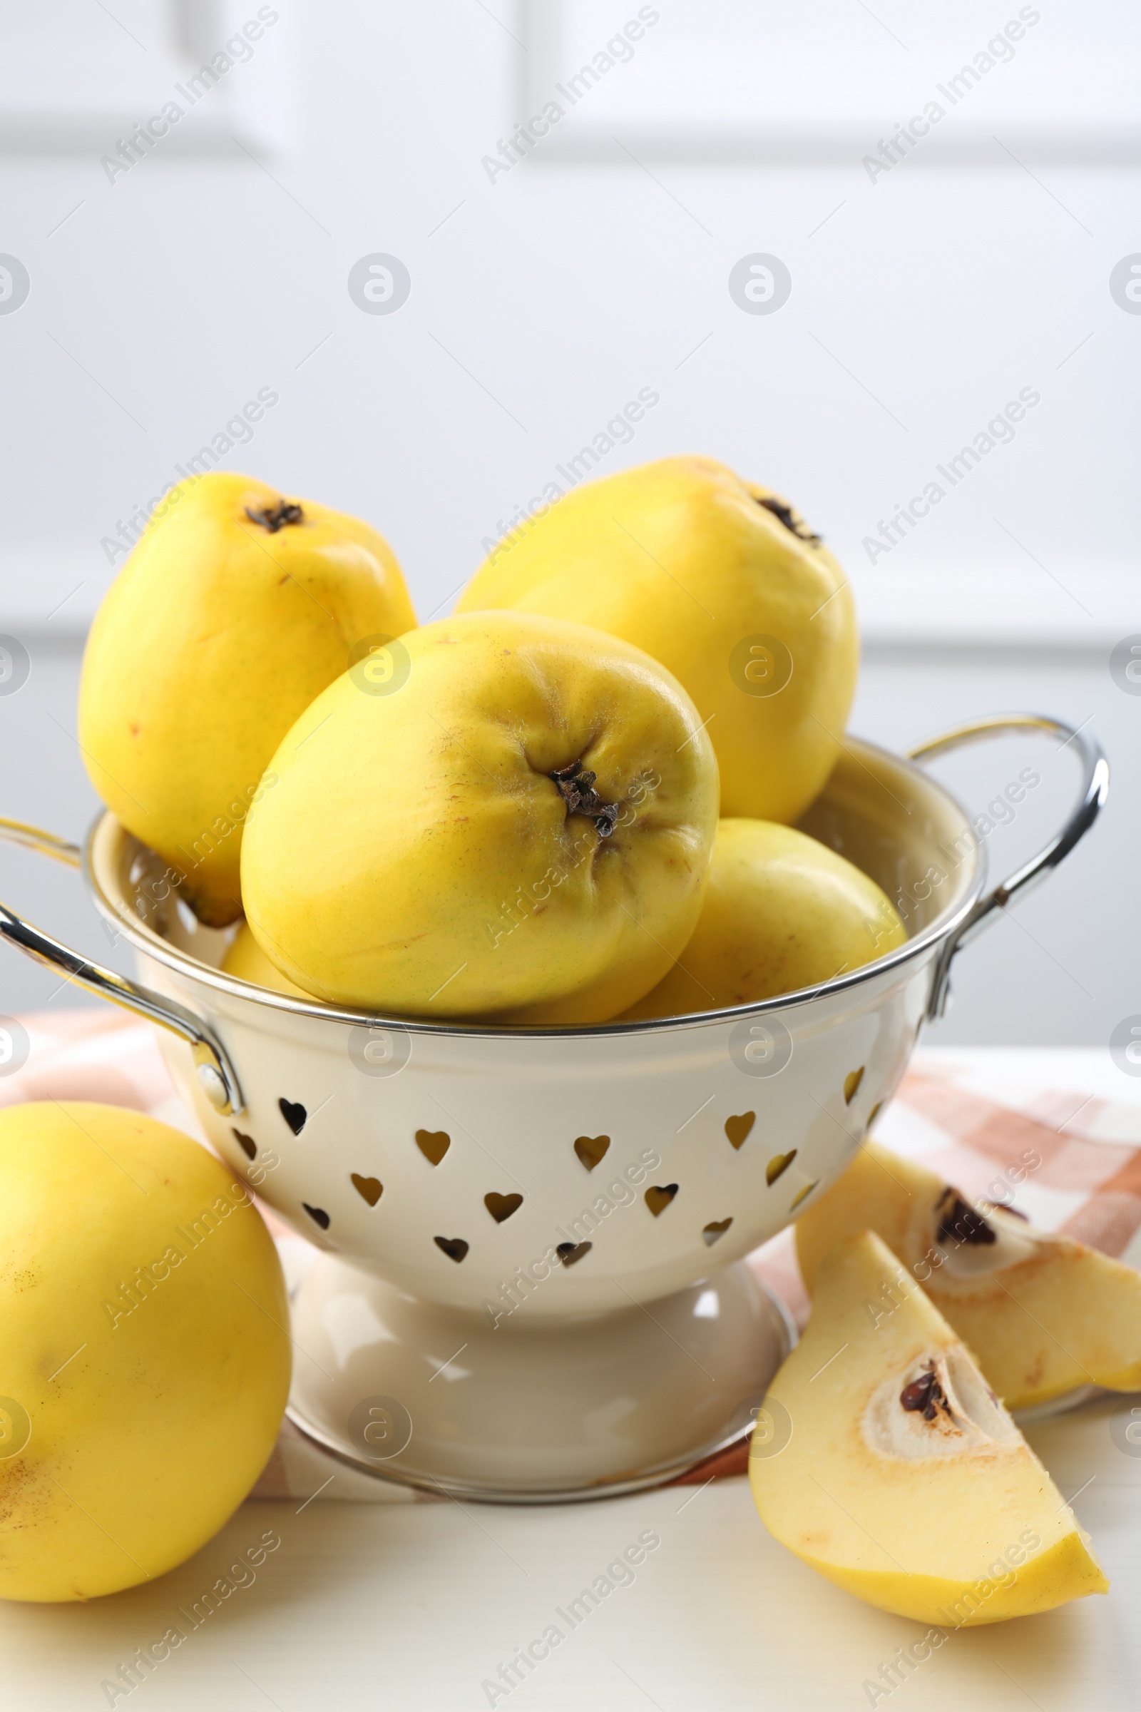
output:
[[[965,748],[968,743],[982,743],[987,738],[1006,736],[1013,731],[1030,731],[1037,736],[1059,738],[1059,748],[1067,748],[1073,743],[1074,753],[1081,762],[1081,793],[1069,818],[1042,846],[1037,856],[1023,863],[1001,885],[992,887],[985,897],[980,897],[970,914],[948,938],[939,955],[931,988],[931,1003],[927,1007],[927,1019],[931,1022],[946,1010],[948,981],[956,952],[963,945],[968,945],[984,928],[990,926],[999,911],[1008,909],[1016,899],[1025,897],[1026,892],[1045,880],[1069,856],[1074,844],[1086,835],[1100,815],[1108,796],[1108,762],[1102,753],[1100,743],[1085,728],[1067,726],[1064,719],[1052,719],[1049,714],[989,714],[985,719],[968,719],[965,724],[953,726],[937,738],[929,738],[925,743],[917,745],[917,748],[908,750],[908,758],[934,760],[936,755],[948,755],[951,750]]]

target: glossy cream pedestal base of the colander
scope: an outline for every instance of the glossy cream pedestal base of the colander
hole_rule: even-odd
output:
[[[614,1311],[491,1323],[322,1255],[293,1305],[289,1418],[380,1479],[500,1503],[667,1481],[749,1430],[794,1339],[746,1265]]]

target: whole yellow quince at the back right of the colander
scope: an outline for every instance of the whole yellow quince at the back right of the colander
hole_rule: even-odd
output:
[[[710,722],[722,813],[797,820],[840,752],[859,637],[840,565],[765,498],[783,505],[708,457],[585,483],[501,541],[457,611],[549,613],[645,649]],[[766,687],[763,656],[749,664],[754,637],[789,651],[792,676],[778,693],[753,693]]]

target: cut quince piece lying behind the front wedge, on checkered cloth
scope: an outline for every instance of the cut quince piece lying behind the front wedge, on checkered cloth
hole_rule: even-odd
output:
[[[866,1142],[795,1228],[811,1291],[854,1229],[876,1231],[978,1356],[1008,1409],[1079,1385],[1141,1390],[1141,1274]]]

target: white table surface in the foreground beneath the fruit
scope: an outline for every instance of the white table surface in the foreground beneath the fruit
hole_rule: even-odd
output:
[[[1026,1068],[1026,1055],[1020,1055]],[[1057,1056],[1050,1055],[1055,1068]],[[1038,1060],[1038,1067],[1042,1060]],[[1110,1084],[1112,1085],[1112,1084]],[[1129,1091],[1132,1092],[1132,1089]],[[1093,1534],[1107,1597],[953,1633],[879,1707],[1117,1712],[1141,1700],[1141,1457],[1102,1399],[1026,1430]],[[176,1472],[173,1471],[173,1477]],[[0,1705],[74,1712],[263,1531],[257,1580],[130,1695],[132,1712],[464,1712],[643,1529],[660,1546],[498,1707],[737,1712],[867,1707],[896,1647],[925,1630],[860,1604],[780,1548],[744,1477],[571,1507],[248,1501],[190,1563],[87,1606],[0,1604]]]

